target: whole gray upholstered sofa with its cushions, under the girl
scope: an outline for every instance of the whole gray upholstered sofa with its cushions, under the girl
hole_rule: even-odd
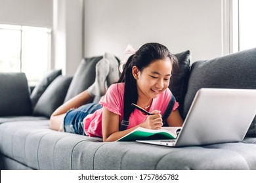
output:
[[[183,118],[200,88],[256,89],[256,48],[192,65],[189,50],[176,56],[180,66],[169,87]],[[100,58],[83,59],[73,77],[53,71],[32,92],[24,73],[0,74],[1,169],[256,169],[255,119],[242,142],[182,148],[49,129],[51,112],[93,83]]]

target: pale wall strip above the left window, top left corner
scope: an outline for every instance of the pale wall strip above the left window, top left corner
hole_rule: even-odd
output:
[[[53,26],[53,0],[0,0],[0,24]]]

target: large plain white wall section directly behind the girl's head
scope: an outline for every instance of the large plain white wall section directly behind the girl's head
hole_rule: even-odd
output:
[[[192,60],[222,55],[222,1],[85,0],[85,56],[160,42]]]

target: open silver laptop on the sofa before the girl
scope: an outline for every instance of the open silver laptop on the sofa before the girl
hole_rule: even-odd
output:
[[[175,140],[137,141],[162,146],[239,142],[256,114],[256,90],[202,88]]]

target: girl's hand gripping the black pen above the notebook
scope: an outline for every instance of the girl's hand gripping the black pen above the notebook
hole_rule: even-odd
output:
[[[161,129],[163,125],[163,120],[161,118],[160,110],[153,110],[150,112],[153,115],[148,115],[146,121],[143,122],[140,126],[147,129]]]

